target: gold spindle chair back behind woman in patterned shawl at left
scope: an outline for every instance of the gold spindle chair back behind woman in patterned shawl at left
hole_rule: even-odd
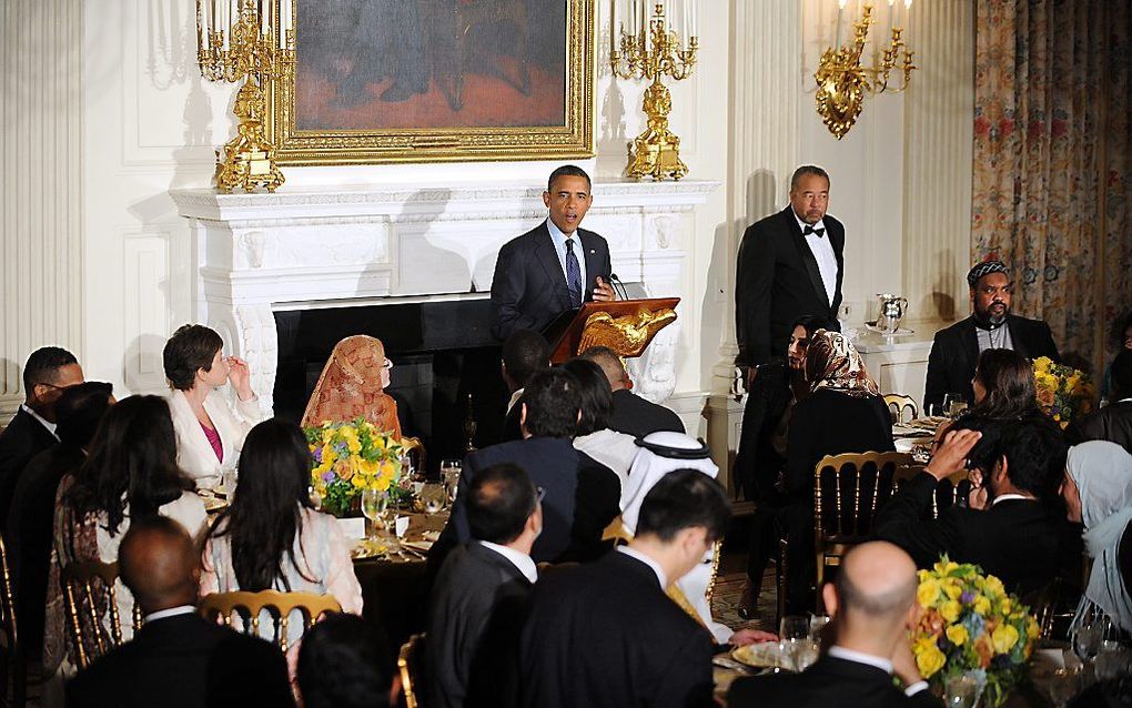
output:
[[[59,580],[63,589],[74,658],[79,668],[86,668],[94,659],[122,643],[115,588],[118,563],[68,563],[60,570]],[[142,628],[142,609],[137,604],[134,605],[131,624],[135,630]]]

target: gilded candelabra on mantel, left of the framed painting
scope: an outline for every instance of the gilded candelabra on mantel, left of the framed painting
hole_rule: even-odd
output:
[[[264,86],[294,70],[291,0],[197,0],[197,63],[211,82],[243,80],[235,94],[237,135],[216,151],[216,187],[275,191],[283,173],[264,131]],[[233,11],[234,10],[234,11]]]

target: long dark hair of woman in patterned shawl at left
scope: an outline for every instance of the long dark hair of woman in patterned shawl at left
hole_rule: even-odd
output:
[[[105,513],[113,535],[127,506],[131,518],[147,519],[191,488],[177,467],[169,403],[157,395],[131,395],[103,416],[65,503],[78,519]]]

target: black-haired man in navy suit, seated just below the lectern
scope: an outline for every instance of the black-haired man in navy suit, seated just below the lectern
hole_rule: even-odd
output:
[[[464,460],[452,517],[429,552],[431,566],[439,569],[453,546],[471,539],[468,489],[480,470],[505,462],[529,470],[531,481],[546,491],[542,534],[531,549],[535,563],[590,560],[608,549],[601,532],[620,511],[620,483],[609,468],[574,449],[582,407],[577,379],[561,369],[535,374],[520,406],[523,440],[478,450]]]

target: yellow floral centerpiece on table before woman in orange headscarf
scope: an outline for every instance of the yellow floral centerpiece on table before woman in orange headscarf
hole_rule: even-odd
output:
[[[388,493],[401,478],[404,449],[365,418],[306,428],[310,481],[323,509],[344,517],[365,489]]]

